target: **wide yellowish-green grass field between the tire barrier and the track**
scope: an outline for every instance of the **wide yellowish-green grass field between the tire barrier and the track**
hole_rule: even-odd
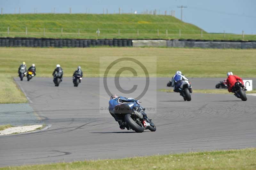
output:
[[[232,71],[241,77],[256,77],[256,50],[235,49],[178,49],[178,48],[0,48],[0,103],[26,102],[24,94],[16,88],[12,77],[18,76],[18,67],[36,64],[38,77],[52,77],[56,64],[60,64],[64,77],[73,75],[80,65],[85,77],[103,76],[99,58],[104,56],[132,57],[147,66],[151,76],[171,77],[177,70],[187,77],[226,77]],[[150,57],[156,57],[157,62]],[[107,63],[103,62],[106,66]],[[132,66],[133,65],[127,65]],[[157,70],[152,69],[157,66]],[[119,69],[119,67],[117,67]],[[136,68],[136,67],[134,67]],[[100,71],[100,72],[99,72]],[[115,76],[110,72],[108,76]],[[124,72],[121,76],[132,76]],[[144,76],[138,72],[138,76]],[[25,78],[26,80],[26,78]]]

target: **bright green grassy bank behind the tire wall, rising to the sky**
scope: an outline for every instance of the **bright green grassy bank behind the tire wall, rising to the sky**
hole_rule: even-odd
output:
[[[0,15],[0,23],[0,36],[2,37],[242,39],[242,35],[225,34],[224,37],[222,33],[210,34],[204,30],[201,37],[201,28],[168,15],[4,14]],[[7,33],[8,27],[9,35]],[[26,27],[27,35],[25,34]],[[100,29],[100,36],[96,33],[98,28]],[[245,34],[244,40],[256,40],[256,35]]]

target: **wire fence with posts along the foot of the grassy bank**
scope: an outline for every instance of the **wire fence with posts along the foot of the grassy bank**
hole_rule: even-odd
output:
[[[200,29],[106,29],[106,28],[40,28],[0,27],[0,37],[53,37],[53,38],[193,38],[255,40],[256,35],[207,33]]]

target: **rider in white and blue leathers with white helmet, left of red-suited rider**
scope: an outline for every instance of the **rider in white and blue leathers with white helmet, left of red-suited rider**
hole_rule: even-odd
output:
[[[177,71],[174,76],[172,77],[172,87],[173,88],[173,91],[175,92],[179,92],[180,95],[181,95],[181,90],[180,90],[180,87],[182,88],[183,86],[183,80],[187,80],[188,81],[188,78],[185,77],[181,71]],[[192,88],[189,88],[189,92],[192,93]]]

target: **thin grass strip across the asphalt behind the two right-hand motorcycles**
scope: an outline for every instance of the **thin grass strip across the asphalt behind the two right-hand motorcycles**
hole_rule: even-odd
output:
[[[174,92],[173,89],[158,89],[161,92]],[[193,93],[208,93],[208,94],[234,94],[229,93],[228,89],[193,89]],[[247,94],[256,93],[256,89],[246,91]]]

